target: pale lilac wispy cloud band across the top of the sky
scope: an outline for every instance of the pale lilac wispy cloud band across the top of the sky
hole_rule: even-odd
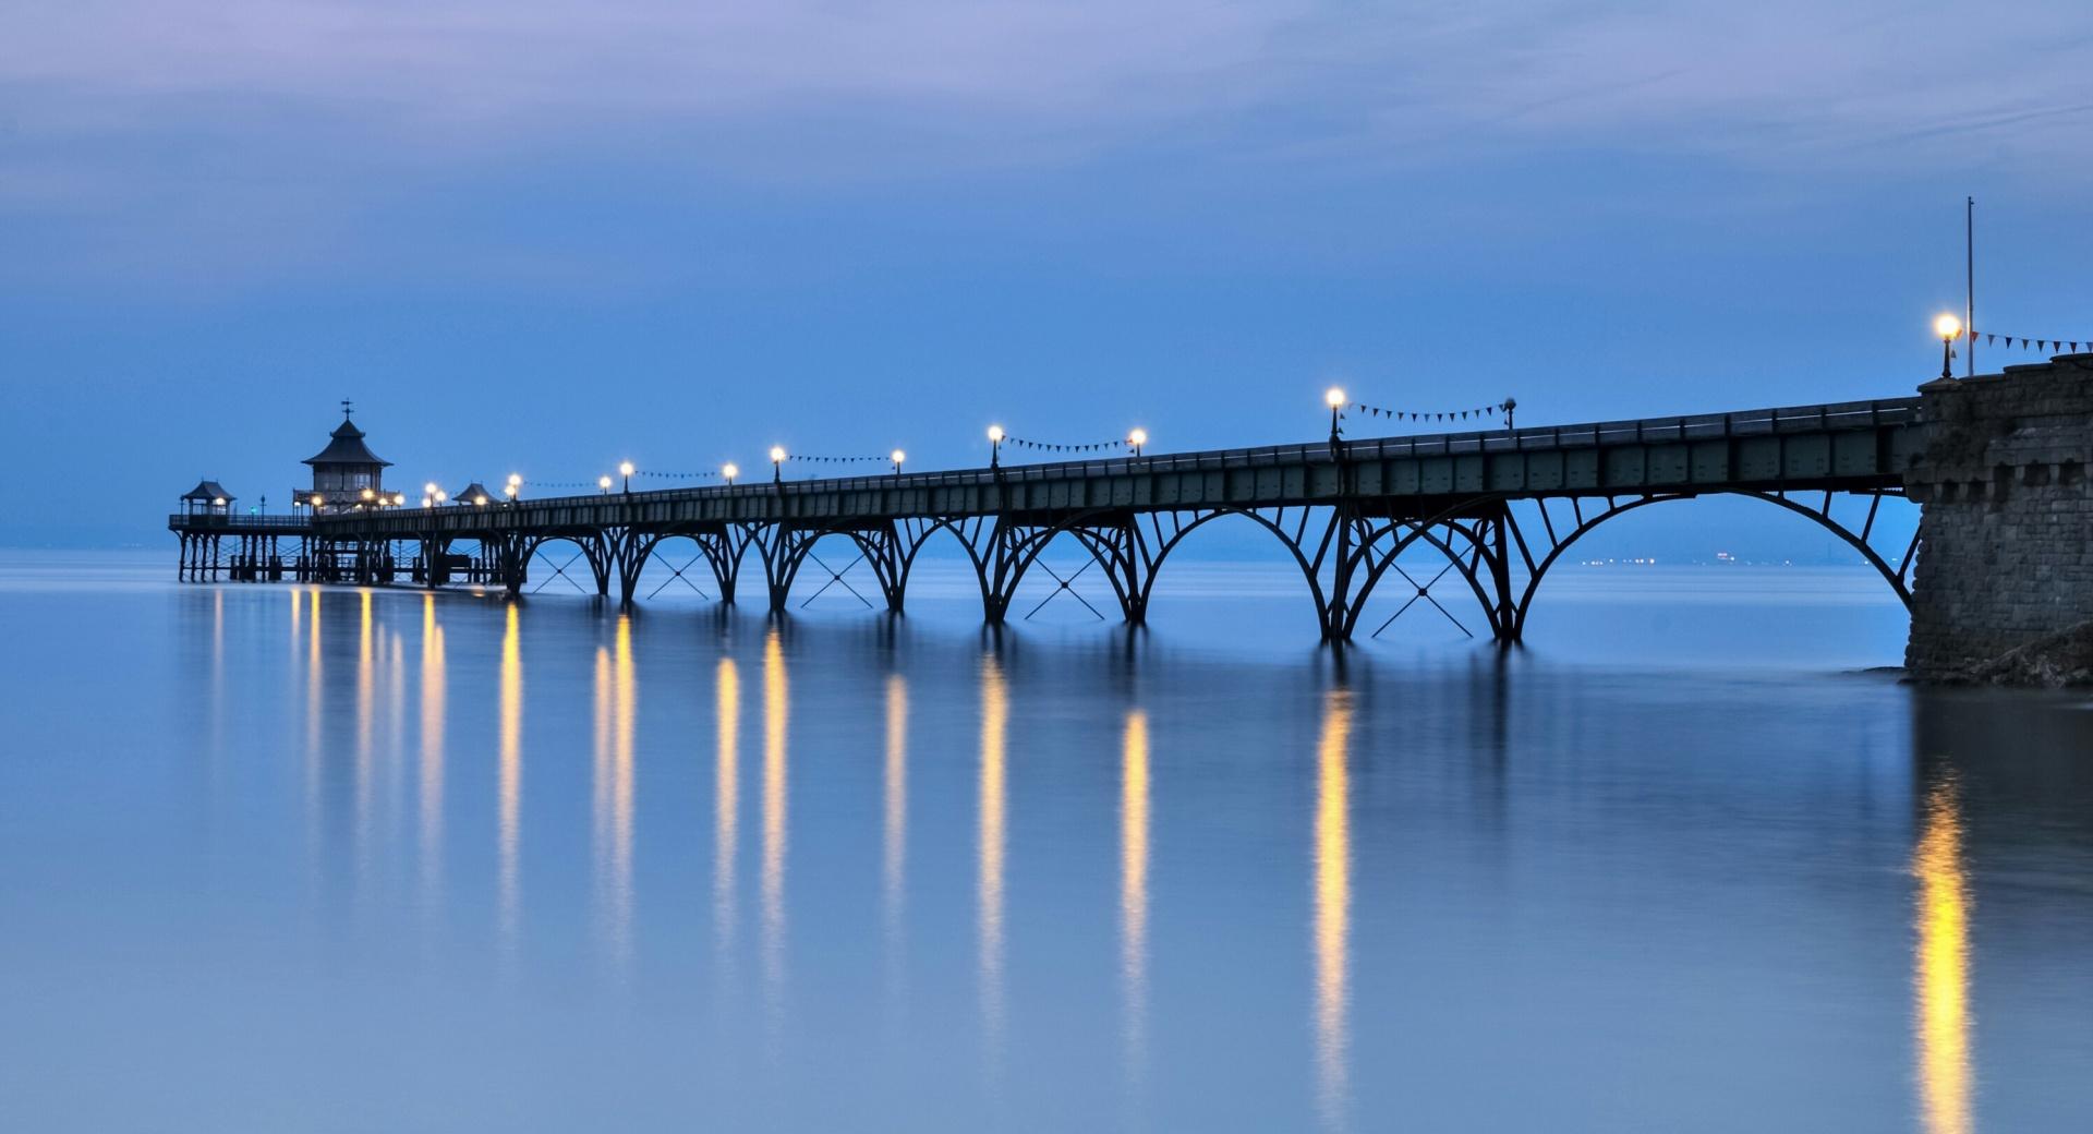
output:
[[[241,264],[318,255],[402,184],[655,146],[831,184],[1143,146],[1275,176],[1545,146],[1894,178],[1955,136],[2093,167],[2080,0],[69,0],[6,29],[0,211],[201,228]]]

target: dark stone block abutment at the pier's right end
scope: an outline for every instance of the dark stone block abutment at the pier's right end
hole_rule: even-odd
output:
[[[1949,678],[2072,628],[2093,634],[2093,354],[1919,393],[1923,448],[1905,471],[1921,506],[1905,667]]]

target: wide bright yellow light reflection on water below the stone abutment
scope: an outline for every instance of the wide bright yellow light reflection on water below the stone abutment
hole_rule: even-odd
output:
[[[1919,1109],[1930,1134],[1970,1134],[1970,879],[1961,860],[1961,801],[1953,783],[1926,797],[1926,831],[1911,854],[1919,879],[1913,994]]]

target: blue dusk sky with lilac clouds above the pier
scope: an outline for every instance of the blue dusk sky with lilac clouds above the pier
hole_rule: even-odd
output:
[[[2083,0],[0,25],[0,544],[159,546],[199,477],[280,508],[343,398],[391,483],[527,490],[980,464],[988,423],[1314,439],[1331,383],[1522,425],[1894,398],[1963,303],[1965,197],[1978,326],[2093,339]]]

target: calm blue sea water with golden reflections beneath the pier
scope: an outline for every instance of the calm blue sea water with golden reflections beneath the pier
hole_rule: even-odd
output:
[[[2093,713],[1865,674],[1863,571],[1335,665],[1266,567],[994,640],[172,557],[0,561],[8,1130],[2093,1126]]]

